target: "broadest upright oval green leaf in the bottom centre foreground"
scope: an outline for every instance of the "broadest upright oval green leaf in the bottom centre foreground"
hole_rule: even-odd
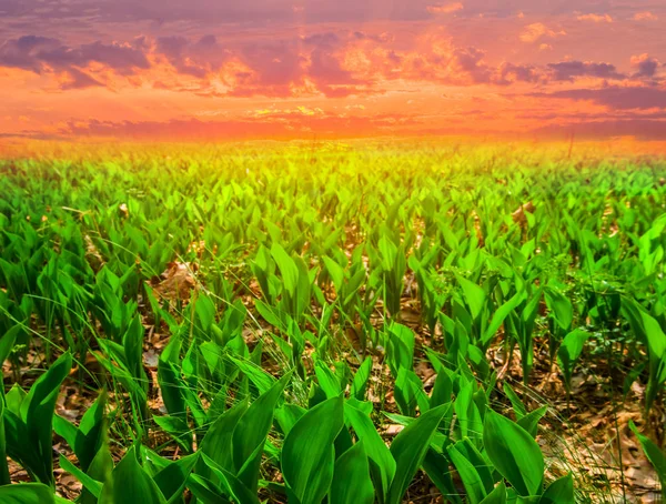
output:
[[[333,480],[333,442],[344,425],[342,396],[305,413],[282,447],[282,474],[299,504],[320,504]]]

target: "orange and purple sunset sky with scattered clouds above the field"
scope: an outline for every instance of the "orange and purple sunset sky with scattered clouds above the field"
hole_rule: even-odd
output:
[[[666,140],[664,0],[0,0],[0,139]]]

